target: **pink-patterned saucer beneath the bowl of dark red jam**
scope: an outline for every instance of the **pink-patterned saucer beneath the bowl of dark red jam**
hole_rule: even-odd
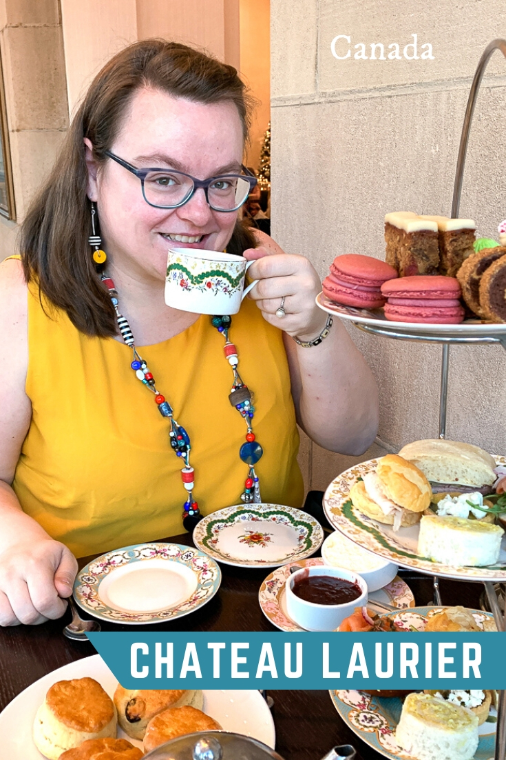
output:
[[[299,633],[304,629],[300,628],[300,625],[297,625],[288,616],[284,594],[284,585],[290,576],[292,565],[298,565],[301,568],[314,567],[315,565],[323,565],[323,560],[321,557],[313,557],[311,559],[302,559],[300,562],[291,562],[290,565],[283,565],[281,568],[270,573],[266,580],[262,582],[258,599],[262,613],[272,622],[272,625],[275,625],[281,631]],[[373,591],[372,594],[369,594],[369,599],[371,601],[376,599],[379,602],[392,604],[400,610],[412,607],[415,603],[410,587],[398,575],[389,584],[380,588],[379,591]]]

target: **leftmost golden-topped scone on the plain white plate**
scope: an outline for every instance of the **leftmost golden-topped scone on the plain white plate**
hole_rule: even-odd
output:
[[[58,681],[37,711],[33,742],[49,760],[87,739],[116,736],[112,699],[93,678]]]

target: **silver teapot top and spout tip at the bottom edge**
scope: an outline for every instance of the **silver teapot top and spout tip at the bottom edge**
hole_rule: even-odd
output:
[[[349,744],[334,747],[322,760],[353,760]],[[200,731],[152,749],[143,760],[283,760],[266,744],[228,731]]]

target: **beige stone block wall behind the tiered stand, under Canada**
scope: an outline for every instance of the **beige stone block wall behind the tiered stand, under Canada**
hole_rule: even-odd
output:
[[[385,213],[451,212],[471,80],[486,45],[506,37],[504,0],[467,0],[464,8],[458,0],[272,0],[271,14],[273,236],[309,256],[322,277],[337,255],[384,258]],[[353,59],[358,43],[384,43],[385,55],[398,43],[402,55],[413,33],[418,55],[431,43],[434,60]],[[351,37],[351,58],[332,56],[337,35]],[[346,52],[341,40],[338,54]],[[480,236],[496,237],[506,217],[505,113],[506,60],[495,53],[460,204]],[[441,349],[349,329],[379,382],[382,439],[401,446],[437,437]],[[501,347],[451,347],[448,438],[506,451],[505,368]],[[316,489],[360,459],[303,441],[306,483]]]

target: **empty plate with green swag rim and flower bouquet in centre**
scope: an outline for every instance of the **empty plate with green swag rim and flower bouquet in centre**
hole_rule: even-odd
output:
[[[322,526],[315,518],[278,504],[225,507],[193,530],[195,546],[234,567],[278,567],[305,559],[322,540]]]

